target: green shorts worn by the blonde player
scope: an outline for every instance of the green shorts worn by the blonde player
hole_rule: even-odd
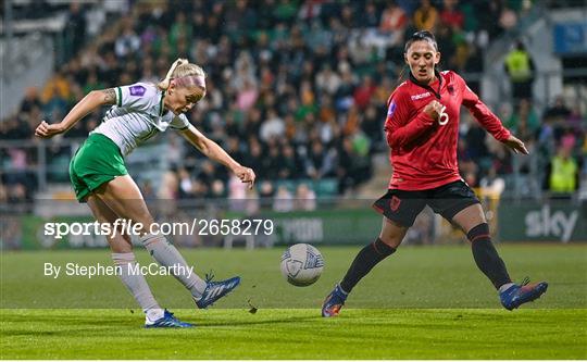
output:
[[[70,162],[70,179],[79,202],[100,185],[127,174],[121,149],[101,134],[91,134]]]

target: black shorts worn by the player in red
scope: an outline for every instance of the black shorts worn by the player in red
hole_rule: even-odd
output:
[[[475,192],[464,182],[457,180],[429,190],[390,189],[373,203],[373,209],[385,217],[410,227],[426,205],[446,220],[452,221],[461,210],[475,203],[479,203]]]

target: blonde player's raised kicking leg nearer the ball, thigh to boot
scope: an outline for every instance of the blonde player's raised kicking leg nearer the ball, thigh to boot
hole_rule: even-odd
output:
[[[142,245],[151,257],[161,265],[170,267],[173,275],[192,295],[198,308],[207,308],[224,297],[240,284],[240,277],[223,282],[203,280],[192,267],[188,266],[179,251],[161,234],[150,234],[154,223],[142,195],[133,178],[128,175],[118,176],[96,190],[102,200],[117,215],[133,223],[142,225]]]

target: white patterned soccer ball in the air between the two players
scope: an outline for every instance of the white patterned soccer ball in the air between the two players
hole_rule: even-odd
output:
[[[324,269],[320,251],[309,244],[296,244],[282,255],[282,274],[297,287],[314,284]]]

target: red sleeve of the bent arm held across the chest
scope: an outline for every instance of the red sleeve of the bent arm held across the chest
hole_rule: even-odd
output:
[[[416,139],[423,132],[429,128],[434,118],[424,112],[420,112],[409,118],[409,103],[401,92],[394,92],[388,102],[385,134],[387,143],[391,148],[401,148]]]

